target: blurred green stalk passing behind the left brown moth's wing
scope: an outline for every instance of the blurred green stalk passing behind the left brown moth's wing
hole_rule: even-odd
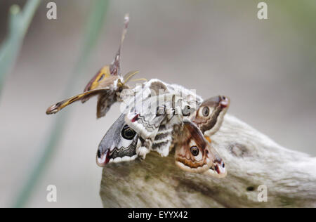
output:
[[[70,93],[76,86],[74,79],[79,79],[83,73],[84,67],[88,63],[89,55],[91,55],[92,49],[94,46],[96,46],[100,31],[104,25],[107,8],[107,0],[93,1],[93,7],[86,23],[81,53],[77,59],[77,65],[74,67],[74,72],[72,72],[68,81],[69,84],[67,84],[67,89],[65,90],[65,97],[70,96]],[[22,185],[22,189],[20,190],[18,198],[15,200],[13,207],[24,207],[25,204],[27,204],[29,197],[31,197],[34,187],[37,185],[39,178],[46,169],[53,152],[57,148],[60,138],[62,138],[62,134],[68,119],[67,117],[70,114],[67,112],[68,110],[69,109],[66,109],[64,112],[58,113],[58,115],[54,116],[56,119],[53,124],[53,128],[50,130],[51,134],[46,140],[47,143],[42,149],[42,154],[39,159],[37,159],[37,164],[35,164],[34,169],[32,169],[31,173],[29,174],[26,183]]]

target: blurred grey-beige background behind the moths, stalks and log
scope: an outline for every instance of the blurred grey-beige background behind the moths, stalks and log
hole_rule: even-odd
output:
[[[0,41],[8,10],[26,1],[0,1]],[[125,13],[131,16],[122,70],[197,89],[203,98],[231,98],[229,113],[286,148],[315,156],[316,1],[110,1],[96,48],[78,78],[74,72],[92,1],[55,0],[58,19],[42,1],[0,97],[0,207],[11,207],[43,152],[58,115],[46,108],[80,93],[112,61]],[[115,105],[96,120],[96,98],[68,110],[69,121],[26,207],[102,207],[96,150],[119,115]],[[66,111],[65,111],[66,112]],[[47,202],[48,185],[57,202]]]

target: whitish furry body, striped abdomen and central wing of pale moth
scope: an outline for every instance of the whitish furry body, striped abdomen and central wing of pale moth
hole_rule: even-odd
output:
[[[158,96],[157,96],[158,95]],[[201,100],[194,92],[177,85],[169,85],[158,79],[148,81],[142,91],[131,100],[126,123],[145,140],[145,154],[149,150],[169,155],[173,140],[173,126],[192,118]]]

